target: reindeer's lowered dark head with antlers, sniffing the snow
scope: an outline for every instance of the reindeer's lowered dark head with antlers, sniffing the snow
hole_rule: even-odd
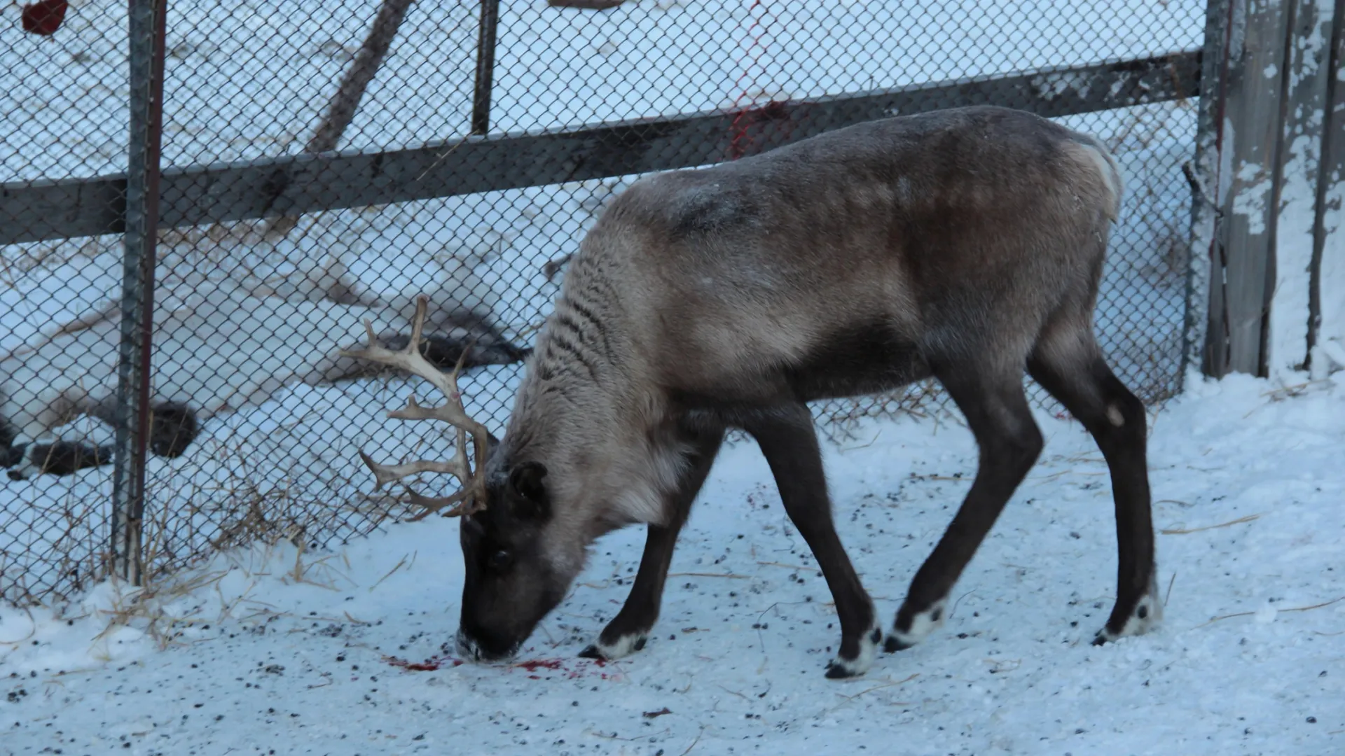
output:
[[[426,300],[420,297],[412,324],[412,336],[404,348],[378,346],[373,326],[366,323],[369,346],[346,356],[369,359],[399,367],[425,378],[448,397],[448,404],[425,408],[414,397],[404,409],[387,413],[401,420],[444,420],[457,430],[455,459],[447,461],[414,460],[385,465],[360,452],[360,459],[374,472],[377,487],[417,472],[448,472],[463,488],[443,498],[409,492],[422,511],[412,521],[432,513],[461,517],[460,541],[465,565],[463,612],[457,631],[459,652],[472,660],[507,659],[531,635],[533,628],[565,596],[578,573],[574,560],[554,558],[543,547],[543,534],[551,523],[551,498],[547,494],[546,467],[539,461],[510,460],[496,453],[498,443],[486,426],[467,416],[457,389],[459,359],[451,374],[432,365],[420,351]],[[464,350],[464,356],[471,350]],[[473,459],[468,460],[471,437]]]

